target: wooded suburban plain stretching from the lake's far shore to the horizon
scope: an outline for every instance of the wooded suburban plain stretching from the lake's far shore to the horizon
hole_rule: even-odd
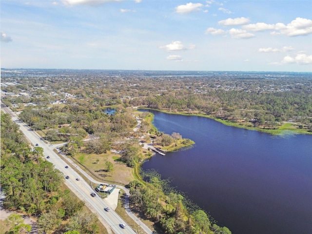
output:
[[[45,71],[45,76],[38,77],[31,71],[23,76],[10,73],[2,82],[18,82],[19,85],[8,86],[6,91],[17,94],[28,91],[32,95],[7,97],[3,101],[9,105],[32,101],[41,107],[52,100],[66,100],[70,104],[62,109],[64,114],[53,117],[42,114],[40,120],[33,119],[36,129],[55,124],[55,119],[59,124],[91,121],[102,114],[101,108],[122,104],[190,113],[200,111],[234,122],[253,120],[254,126],[266,125],[268,128],[292,120],[312,131],[312,79],[309,73],[206,72],[206,76],[197,76],[194,72],[184,72],[182,74],[188,75],[175,76],[179,73],[163,72],[167,77],[159,74],[162,73],[73,70]],[[66,98],[66,93],[75,98]],[[78,114],[81,111],[92,115]]]

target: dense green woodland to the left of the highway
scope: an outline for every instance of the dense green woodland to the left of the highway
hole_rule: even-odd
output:
[[[3,206],[37,217],[40,233],[98,233],[97,217],[82,212],[84,203],[69,195],[68,190],[61,190],[64,176],[42,159],[42,153],[40,147],[29,148],[19,126],[1,112],[1,188],[6,195]],[[17,223],[17,231],[28,230],[27,225]]]

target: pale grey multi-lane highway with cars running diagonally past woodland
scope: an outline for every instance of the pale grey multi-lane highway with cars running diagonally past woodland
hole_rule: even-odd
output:
[[[109,207],[109,205],[106,204],[105,201],[101,199],[98,195],[96,195],[95,197],[91,196],[91,193],[94,193],[93,189],[85,180],[76,180],[76,178],[80,176],[75,170],[73,170],[70,166],[68,168],[65,168],[67,164],[62,160],[61,157],[58,156],[58,154],[53,151],[55,146],[46,144],[43,140],[40,140],[40,137],[34,131],[31,131],[27,125],[20,121],[18,117],[14,113],[12,113],[12,111],[8,107],[5,107],[2,104],[1,109],[5,113],[9,114],[14,122],[20,125],[20,130],[33,145],[38,144],[39,147],[43,148],[43,155],[45,156],[45,159],[53,163],[55,167],[64,174],[64,178],[65,176],[69,176],[69,179],[65,179],[65,184],[75,194],[78,194],[78,197],[81,200],[83,200],[85,203],[88,203],[93,208],[93,210],[96,211],[96,213],[98,214],[98,218],[103,219],[106,222],[106,228],[109,226],[115,234],[136,234],[136,231],[133,230],[133,228],[128,225],[113,209],[110,209],[109,212],[104,211],[104,208]],[[49,158],[47,158],[47,156],[49,156]],[[73,164],[72,161],[71,164]],[[137,220],[136,222],[140,225],[142,224],[141,227],[145,226],[140,220]],[[121,223],[125,224],[125,228],[121,228]],[[143,229],[146,233],[152,233],[152,231],[147,227]],[[108,232],[112,233],[111,230],[108,230]]]

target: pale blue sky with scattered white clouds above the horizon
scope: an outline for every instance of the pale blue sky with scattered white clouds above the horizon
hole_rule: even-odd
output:
[[[312,0],[0,0],[1,68],[312,72]]]

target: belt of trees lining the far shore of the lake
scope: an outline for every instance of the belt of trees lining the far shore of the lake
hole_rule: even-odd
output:
[[[143,105],[170,111],[200,111],[220,118],[258,119],[281,122],[297,118],[304,124],[311,124],[312,95],[305,92],[247,93],[245,91],[216,90],[206,94],[189,96],[149,96]]]

